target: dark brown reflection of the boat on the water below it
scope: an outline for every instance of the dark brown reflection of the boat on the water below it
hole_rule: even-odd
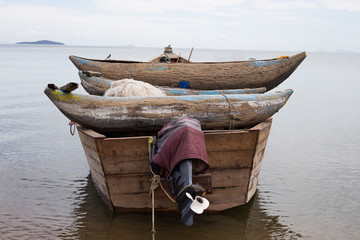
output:
[[[62,239],[151,239],[150,213],[113,213],[98,196],[91,176],[78,191],[83,197],[75,205],[73,229]],[[302,236],[267,213],[265,193],[257,192],[245,206],[221,213],[195,216],[192,227],[180,223],[176,213],[156,213],[156,239],[298,239]]]

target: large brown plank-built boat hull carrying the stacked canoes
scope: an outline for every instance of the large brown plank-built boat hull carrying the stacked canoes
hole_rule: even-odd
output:
[[[210,169],[194,176],[193,182],[206,188],[208,211],[239,206],[253,197],[271,122],[267,119],[248,130],[204,131]],[[150,136],[108,138],[77,127],[92,178],[105,202],[117,211],[149,211]],[[177,205],[158,188],[155,208],[176,211]]]

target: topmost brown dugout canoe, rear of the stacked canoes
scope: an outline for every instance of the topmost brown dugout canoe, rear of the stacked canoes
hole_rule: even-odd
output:
[[[268,60],[151,63],[87,59],[70,55],[82,71],[99,72],[109,79],[132,78],[157,86],[179,87],[186,81],[191,89],[242,89],[265,87],[271,90],[287,79],[305,59],[302,52],[291,57]]]

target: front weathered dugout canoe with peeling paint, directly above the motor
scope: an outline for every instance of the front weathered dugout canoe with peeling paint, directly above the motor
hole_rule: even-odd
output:
[[[44,92],[71,121],[99,132],[158,131],[180,117],[197,119],[202,129],[253,126],[279,111],[293,93],[113,98],[48,87]]]

